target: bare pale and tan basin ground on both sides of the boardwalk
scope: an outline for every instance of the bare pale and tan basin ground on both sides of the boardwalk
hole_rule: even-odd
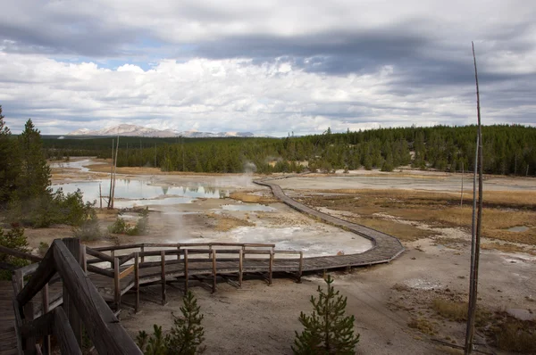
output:
[[[92,168],[102,172],[109,169],[105,164]],[[80,177],[90,179],[99,177],[102,172],[56,169],[54,179],[56,182]],[[304,250],[314,250],[315,245],[322,244],[327,252],[366,249],[366,245],[352,240],[346,232],[307,219],[281,203],[272,203],[269,191],[253,185],[251,176],[164,175],[145,168],[120,169],[120,173],[129,174],[131,178],[148,175],[154,179],[154,184],[163,185],[202,180],[213,186],[230,187],[234,194],[231,197],[238,199],[202,199],[165,209],[151,207],[151,235],[120,236],[121,243],[147,239],[236,240],[237,235],[255,237],[256,232],[270,235],[270,230],[275,231],[271,237],[277,238],[285,231],[294,230],[295,233],[281,236],[278,242]],[[466,301],[470,257],[467,214],[470,216],[471,212],[469,207],[457,206],[459,175],[357,171],[337,176],[291,177],[278,183],[289,195],[314,208],[400,236],[406,246],[406,252],[390,264],[355,268],[350,274],[333,274],[334,285],[348,297],[348,312],[356,316],[356,330],[361,334],[357,353],[457,353],[432,339],[463,344],[464,323],[441,317],[432,305],[435,300]],[[471,203],[471,188],[470,179],[465,177],[467,206]],[[484,230],[488,235],[483,241],[485,248],[481,256],[479,305],[492,313],[509,310],[519,318],[532,318],[532,323],[529,321],[523,326],[534,326],[536,200],[532,194],[536,191],[536,180],[487,177],[484,188],[494,204],[487,207],[490,228]],[[223,204],[240,205],[239,200],[244,201],[244,205],[246,202],[268,203],[276,211],[217,211]],[[106,225],[115,215],[112,212],[100,217]],[[523,227],[523,231],[508,231],[510,227]],[[71,229],[58,226],[29,230],[27,234],[37,247],[38,241],[69,236]],[[331,245],[330,240],[337,240],[337,243]],[[96,242],[106,243],[112,242]],[[302,284],[285,278],[276,279],[272,286],[261,280],[248,280],[242,289],[219,284],[214,294],[202,285],[193,287],[205,314],[207,353],[291,353],[294,331],[300,329],[297,317],[300,311],[311,310],[308,299],[322,284],[322,277],[310,275]],[[169,329],[171,313],[179,312],[180,295],[179,288],[170,287],[169,303],[161,306],[158,291],[144,289],[142,312],[133,314],[128,309],[123,310],[121,322],[132,335],[139,330],[150,331],[155,323]],[[484,331],[487,330],[479,330],[477,341],[493,342],[493,337],[482,337]]]

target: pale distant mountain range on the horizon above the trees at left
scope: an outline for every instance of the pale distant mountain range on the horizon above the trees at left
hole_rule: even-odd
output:
[[[67,136],[154,136],[154,137],[172,137],[184,136],[186,138],[214,138],[226,136],[255,136],[251,132],[198,132],[198,131],[175,131],[172,129],[155,129],[136,125],[122,124],[112,128],[103,128],[90,130],[80,128],[67,134]]]

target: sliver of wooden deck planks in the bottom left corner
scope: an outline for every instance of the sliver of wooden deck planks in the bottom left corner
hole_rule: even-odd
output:
[[[13,284],[11,281],[0,281],[0,355],[18,353],[13,312]]]

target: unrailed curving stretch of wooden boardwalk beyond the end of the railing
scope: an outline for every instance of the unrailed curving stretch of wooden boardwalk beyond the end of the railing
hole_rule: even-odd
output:
[[[280,199],[281,202],[284,202],[297,211],[305,213],[306,215],[314,217],[315,219],[321,219],[323,222],[329,223],[333,226],[344,228],[373,242],[373,248],[366,252],[304,258],[304,271],[380,264],[389,262],[404,252],[404,247],[398,238],[392,235],[386,235],[385,233],[381,233],[369,227],[364,227],[356,223],[348,222],[347,220],[338,219],[326,213],[316,211],[303,203],[291,199],[283,192],[281,186],[275,184],[273,180],[274,179],[255,180],[254,183],[257,185],[270,187],[272,189],[272,193],[278,199]]]

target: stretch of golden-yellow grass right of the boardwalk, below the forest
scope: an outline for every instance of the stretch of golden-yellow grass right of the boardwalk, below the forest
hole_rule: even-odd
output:
[[[464,206],[460,207],[459,194],[400,189],[339,189],[330,192],[346,195],[314,196],[306,198],[305,202],[315,207],[324,206],[333,210],[351,211],[364,218],[381,212],[436,227],[463,227],[470,230],[472,225],[472,202],[466,198]],[[407,229],[406,225],[396,221],[379,225],[380,222],[376,220],[364,219],[362,224],[366,226],[367,223],[370,227],[375,226],[376,229],[397,236],[398,230]],[[397,227],[393,227],[393,223]],[[516,226],[525,226],[529,229],[524,232],[507,230]],[[382,229],[383,227],[389,228],[389,231]],[[506,242],[536,245],[536,192],[487,192],[484,195],[482,235]]]

